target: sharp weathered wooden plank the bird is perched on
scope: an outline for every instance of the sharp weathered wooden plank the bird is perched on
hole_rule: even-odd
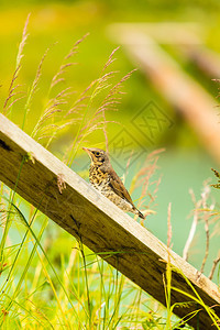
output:
[[[23,157],[26,161],[21,167]],[[166,245],[0,114],[0,180],[13,189],[20,169],[19,195],[96,253],[109,252],[108,257],[105,255],[108,263],[165,305]],[[66,184],[62,194],[57,186],[58,177]],[[166,221],[166,216],[162,221]],[[218,287],[176,253],[170,252],[170,260],[201,299],[208,306],[216,306],[215,310],[220,316]],[[195,295],[175,270],[172,285]],[[189,301],[189,298],[172,290],[172,304],[180,301]],[[200,306],[191,302],[176,308],[175,314],[184,317],[197,308]],[[200,311],[199,320],[200,330],[211,329],[212,322],[205,310]],[[191,326],[196,322],[196,318],[189,321]]]

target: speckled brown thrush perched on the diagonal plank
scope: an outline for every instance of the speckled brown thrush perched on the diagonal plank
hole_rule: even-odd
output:
[[[82,147],[82,150],[88,153],[91,160],[89,167],[91,185],[123,211],[132,212],[144,219],[144,216],[135,208],[129,191],[111,166],[107,153],[98,147]]]

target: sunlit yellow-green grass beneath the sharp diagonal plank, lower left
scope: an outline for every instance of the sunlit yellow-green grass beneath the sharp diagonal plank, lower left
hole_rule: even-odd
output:
[[[156,312],[144,306],[146,295],[80,243],[73,243],[70,254],[57,254],[58,264],[51,262],[54,239],[41,243],[48,219],[35,210],[28,220],[9,205],[10,221],[22,226],[22,240],[3,248],[1,329],[29,329],[30,323],[30,329],[132,329],[144,323],[150,311],[154,320]]]

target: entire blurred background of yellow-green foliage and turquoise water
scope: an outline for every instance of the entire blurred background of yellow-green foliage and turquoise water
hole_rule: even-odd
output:
[[[25,56],[22,59],[22,70],[19,84],[29,89],[34,79],[37,65],[50,46],[50,52],[43,65],[43,73],[38,90],[30,113],[26,131],[30,133],[41,116],[48,90],[51,79],[62,64],[64,56],[68,53],[73,44],[89,32],[89,36],[79,47],[79,53],[75,59],[75,65],[66,74],[68,86],[73,86],[76,94],[82,91],[91,80],[96,79],[107,62],[111,52],[118,46],[107,33],[108,26],[114,22],[195,22],[202,26],[204,43],[208,48],[220,53],[220,2],[211,0],[198,1],[0,1],[0,84],[1,105],[3,105],[12,74],[15,67],[15,56],[21,41],[22,30],[28,14],[31,13],[29,24],[29,38],[24,48]],[[184,56],[169,47],[167,50],[182,65],[183,70],[189,73],[213,96],[217,96],[217,84],[205,77],[193,64],[188,63]],[[119,70],[118,79],[134,68],[129,61],[123,46],[116,54],[117,61],[112,65],[113,70]],[[218,77],[213,77],[218,78]],[[172,122],[172,127],[163,129],[158,133],[154,143],[148,144],[145,136],[135,130],[139,145],[144,148],[144,153],[132,164],[127,177],[129,187],[134,173],[136,173],[146,154],[155,148],[165,147],[161,155],[156,176],[162,175],[162,183],[158,187],[156,215],[148,216],[146,227],[163,242],[167,240],[167,206],[172,202],[172,224],[173,224],[173,249],[182,254],[188,231],[191,224],[191,217],[188,215],[194,209],[190,200],[189,188],[193,188],[196,197],[199,198],[202,183],[211,177],[216,182],[210,170],[211,167],[218,169],[218,164],[207,154],[199,143],[194,130],[188,127],[183,118],[179,118],[172,105],[169,105],[154,88],[151,81],[144,77],[141,70],[133,73],[125,81],[123,90],[127,92],[122,97],[118,112],[109,112],[108,120],[121,122],[129,132],[132,133],[132,119],[150,101],[153,101]],[[21,101],[13,113],[12,120],[21,124],[23,118],[23,102]],[[63,131],[58,139],[52,144],[52,152],[59,156],[76,134],[77,128]],[[119,131],[117,131],[119,130]],[[114,124],[108,128],[109,141],[116,138]],[[103,136],[94,133],[88,141],[89,145],[103,146]],[[123,175],[125,161],[121,160],[113,165],[120,176]],[[88,165],[87,156],[81,151],[77,153],[77,161],[73,164],[73,169],[77,173],[84,172]],[[156,177],[155,176],[155,177]],[[87,175],[85,175],[87,177]],[[88,179],[88,177],[87,177]],[[212,196],[219,200],[219,191],[212,190]],[[133,195],[133,199],[139,198],[139,190]],[[213,228],[215,223],[212,224]],[[70,242],[72,238],[68,237]],[[68,253],[70,243],[62,244],[62,249]],[[59,245],[61,249],[61,245]],[[219,249],[219,237],[212,238],[210,243],[209,261],[206,265],[206,275],[209,274],[212,260]],[[204,223],[199,223],[194,246],[190,250],[189,262],[196,267],[200,267],[205,253],[205,231]],[[217,278],[216,278],[217,279]]]

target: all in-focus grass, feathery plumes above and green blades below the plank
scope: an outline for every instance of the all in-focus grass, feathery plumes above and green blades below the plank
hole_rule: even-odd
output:
[[[21,101],[22,86],[19,78],[23,66],[23,54],[28,37],[26,25],[19,48],[15,70],[12,76],[3,113],[14,118]],[[63,160],[68,165],[86,139],[92,140],[95,130],[100,130],[101,143],[108,147],[107,111],[120,101],[122,84],[130,74],[114,81],[114,70],[109,70],[114,51],[103,65],[99,77],[88,85],[76,99],[69,87],[63,88],[65,70],[73,66],[73,57],[78,52],[79,40],[74,44],[64,62],[57,68],[48,85],[48,92],[42,101],[42,111],[32,130],[32,135],[46,147],[56,139],[61,130],[76,125],[75,140]],[[24,94],[24,113],[21,127],[28,130],[29,116],[41,86],[42,68],[46,51],[40,62],[33,84]],[[69,62],[70,61],[70,62]],[[18,91],[19,90],[19,91]],[[18,91],[18,94],[16,94]],[[23,97],[23,95],[22,95]],[[23,99],[22,99],[23,100]],[[73,102],[73,103],[72,103]],[[70,110],[69,110],[70,109]],[[76,124],[77,123],[77,124]],[[117,124],[117,123],[112,123]],[[132,182],[131,190],[142,185],[142,195],[151,186],[155,173],[157,154],[146,161]],[[22,165],[25,160],[21,163]],[[128,166],[129,167],[129,166]],[[18,176],[19,180],[19,176]],[[152,204],[158,189],[160,179],[154,183]],[[147,189],[148,191],[148,189]],[[143,205],[141,199],[140,205]],[[96,255],[80,241],[72,238],[51,223],[37,208],[28,205],[14,190],[1,184],[1,227],[0,245],[0,327],[1,329],[178,329],[180,323],[173,315],[170,304],[172,266],[167,263],[165,296],[167,309],[128,280]],[[144,223],[143,223],[144,224]],[[168,249],[170,246],[170,209],[168,212]],[[187,278],[185,278],[187,280]],[[188,283],[190,285],[190,283]],[[196,293],[195,293],[196,294]],[[212,310],[197,298],[219,329],[219,319]],[[188,299],[188,297],[186,297]],[[190,317],[190,316],[189,316]],[[180,328],[179,328],[180,329]],[[186,327],[187,329],[187,327]],[[189,329],[189,328],[188,328]]]

